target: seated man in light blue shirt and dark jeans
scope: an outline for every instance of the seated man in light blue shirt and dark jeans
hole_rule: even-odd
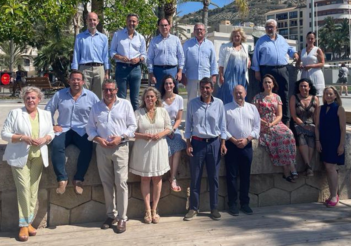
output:
[[[56,193],[65,193],[68,183],[65,149],[69,144],[74,144],[80,153],[73,185],[75,193],[81,195],[83,193],[82,182],[89,167],[93,148],[93,143],[88,140],[85,127],[90,109],[99,102],[99,98],[92,91],[83,88],[84,76],[78,70],[69,75],[69,85],[68,88],[55,93],[45,110],[51,112],[55,132],[51,146],[51,161],[58,182]],[[59,113],[57,124],[54,121],[56,110]]]

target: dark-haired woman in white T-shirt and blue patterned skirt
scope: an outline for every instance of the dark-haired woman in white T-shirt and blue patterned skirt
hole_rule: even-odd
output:
[[[177,183],[176,174],[180,160],[181,150],[186,148],[186,143],[181,137],[178,127],[183,114],[183,97],[178,95],[178,88],[172,75],[166,75],[160,87],[163,106],[167,110],[173,125],[172,134],[166,137],[168,144],[168,157],[171,167],[170,186],[174,192],[180,192],[181,188]]]

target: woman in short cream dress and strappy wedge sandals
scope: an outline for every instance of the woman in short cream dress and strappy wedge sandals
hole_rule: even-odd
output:
[[[139,175],[141,194],[145,203],[144,222],[158,223],[160,215],[157,205],[162,187],[162,175],[170,170],[166,136],[172,132],[168,112],[162,106],[160,92],[148,87],[141,96],[141,104],[134,112],[137,120],[135,142],[132,149],[130,171]],[[150,183],[152,188],[152,207],[150,206]]]

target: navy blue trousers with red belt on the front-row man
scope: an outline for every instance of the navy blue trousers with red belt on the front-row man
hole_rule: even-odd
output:
[[[220,164],[220,140],[206,143],[191,140],[193,156],[190,157],[190,209],[199,209],[199,196],[201,188],[201,177],[206,162],[207,180],[210,188],[210,207],[216,209],[218,205],[218,173]]]

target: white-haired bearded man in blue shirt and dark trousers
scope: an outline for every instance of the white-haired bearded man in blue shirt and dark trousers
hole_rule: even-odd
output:
[[[285,38],[277,33],[277,21],[266,21],[266,34],[260,37],[255,45],[251,68],[255,71],[255,77],[261,82],[261,78],[269,73],[278,82],[278,95],[282,99],[283,117],[282,122],[289,125],[289,71],[287,70],[288,54],[294,60],[299,58],[294,47],[289,46]]]

